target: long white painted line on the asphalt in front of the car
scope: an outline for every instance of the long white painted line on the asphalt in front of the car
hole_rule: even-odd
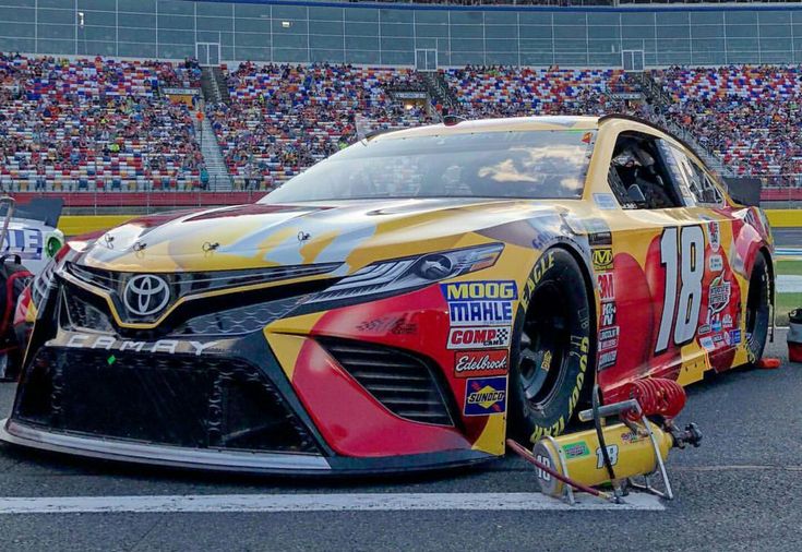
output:
[[[396,511],[650,511],[657,496],[631,494],[625,504],[589,495],[568,504],[540,493],[194,494],[165,496],[0,497],[0,514],[182,512],[396,512]]]

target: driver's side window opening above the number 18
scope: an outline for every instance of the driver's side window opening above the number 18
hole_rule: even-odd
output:
[[[623,208],[662,209],[683,205],[658,141],[635,132],[622,133],[615,141],[608,181]]]

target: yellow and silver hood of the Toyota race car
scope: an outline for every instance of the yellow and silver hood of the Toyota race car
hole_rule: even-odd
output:
[[[147,216],[83,249],[80,263],[122,272],[242,269],[376,260],[495,241],[481,230],[565,207],[535,201],[394,200],[253,204]],[[490,239],[489,239],[490,237]]]

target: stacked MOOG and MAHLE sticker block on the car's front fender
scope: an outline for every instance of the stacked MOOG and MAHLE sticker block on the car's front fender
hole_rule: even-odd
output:
[[[513,280],[442,284],[452,326],[510,325],[518,289]]]

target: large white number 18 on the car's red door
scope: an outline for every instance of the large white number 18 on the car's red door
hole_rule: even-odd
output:
[[[666,228],[660,238],[660,264],[666,267],[666,295],[655,352],[668,349],[672,328],[674,345],[684,345],[696,334],[705,273],[705,233],[702,227]]]

